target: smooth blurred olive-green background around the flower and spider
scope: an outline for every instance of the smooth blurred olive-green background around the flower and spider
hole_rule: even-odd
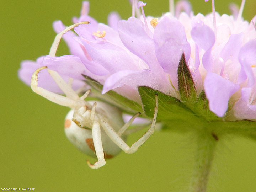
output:
[[[234,0],[240,5],[241,0]],[[146,15],[168,11],[167,0],[148,0]],[[231,0],[216,2],[220,14],[228,13]],[[121,153],[106,166],[91,170],[86,155],[66,139],[63,124],[68,108],[34,94],[17,77],[21,60],[35,60],[49,52],[55,37],[54,20],[71,24],[79,16],[81,0],[0,2],[1,129],[0,188],[35,188],[37,192],[69,191],[186,191],[193,169],[194,141],[190,135],[155,132],[135,154]],[[211,3],[193,0],[195,14],[207,14]],[[247,0],[246,20],[256,13],[255,0]],[[90,15],[106,23],[117,11],[131,16],[128,0],[90,2]],[[68,54],[62,42],[58,55]],[[132,144],[143,132],[128,139]],[[230,137],[219,141],[208,192],[256,191],[256,143]],[[94,159],[90,159],[94,161]]]

